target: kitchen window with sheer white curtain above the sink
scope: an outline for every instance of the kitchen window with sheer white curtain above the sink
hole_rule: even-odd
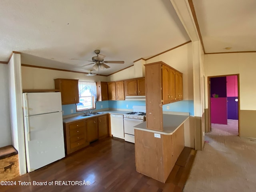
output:
[[[78,81],[79,103],[76,104],[76,111],[95,109],[96,89],[96,82]]]

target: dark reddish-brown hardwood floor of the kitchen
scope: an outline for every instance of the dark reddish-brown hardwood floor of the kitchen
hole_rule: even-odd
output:
[[[16,177],[11,180],[16,181],[15,186],[0,186],[0,191],[181,192],[194,156],[195,150],[185,147],[164,184],[136,172],[134,144],[118,138],[106,138],[58,162]],[[21,186],[19,181],[20,184],[30,182],[31,185]],[[47,182],[47,185],[33,185],[33,181]],[[71,181],[89,181],[90,185],[74,185]]]

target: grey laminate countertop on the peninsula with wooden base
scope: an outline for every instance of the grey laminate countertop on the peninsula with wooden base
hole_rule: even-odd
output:
[[[134,126],[134,129],[153,132],[153,133],[159,133],[164,135],[172,135],[188,118],[189,116],[186,116],[186,115],[163,114],[163,128],[164,128],[163,131],[147,129],[146,121]]]

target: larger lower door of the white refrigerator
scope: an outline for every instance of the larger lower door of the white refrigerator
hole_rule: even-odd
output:
[[[25,116],[28,172],[64,158],[62,112]]]

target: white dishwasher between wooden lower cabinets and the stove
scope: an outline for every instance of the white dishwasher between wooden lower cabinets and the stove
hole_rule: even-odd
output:
[[[110,114],[111,134],[113,137],[124,139],[123,115]]]

